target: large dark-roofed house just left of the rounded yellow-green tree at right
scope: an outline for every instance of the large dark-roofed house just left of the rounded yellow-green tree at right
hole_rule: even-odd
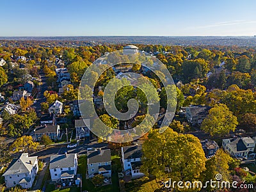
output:
[[[186,118],[192,125],[201,125],[202,121],[209,115],[210,106],[194,105],[186,107]]]

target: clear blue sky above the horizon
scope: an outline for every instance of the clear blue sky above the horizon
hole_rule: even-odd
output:
[[[255,0],[1,0],[0,36],[256,35]]]

